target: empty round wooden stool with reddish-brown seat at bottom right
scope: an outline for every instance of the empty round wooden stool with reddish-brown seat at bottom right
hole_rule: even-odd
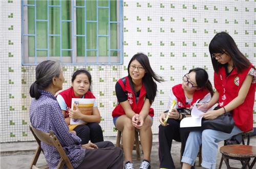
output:
[[[249,169],[252,169],[256,162],[256,147],[248,145],[233,144],[223,146],[220,149],[222,158],[224,159],[227,168],[234,168],[229,166],[229,159],[240,160],[242,163],[242,169],[248,165]],[[251,165],[249,164],[250,158],[254,158]]]

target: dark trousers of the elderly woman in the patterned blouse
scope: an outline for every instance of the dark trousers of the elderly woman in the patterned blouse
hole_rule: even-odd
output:
[[[91,168],[123,168],[123,151],[119,147],[115,147],[110,141],[102,141],[95,143],[99,149],[86,149],[86,156],[77,169]]]

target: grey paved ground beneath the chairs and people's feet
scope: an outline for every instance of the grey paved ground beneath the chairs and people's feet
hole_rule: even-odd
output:
[[[159,158],[158,158],[158,135],[153,136],[153,147],[151,155],[152,169],[159,168]],[[105,140],[115,141],[115,137],[105,137]],[[252,137],[250,144],[256,146],[256,137]],[[181,168],[180,164],[180,142],[173,142],[172,156],[177,169]],[[223,146],[223,142],[219,143],[219,148]],[[1,143],[1,168],[29,168],[31,160],[33,158],[34,150],[37,147],[36,142],[15,142],[15,143]],[[218,153],[217,168],[219,167],[221,154]],[[139,168],[140,162],[136,160],[135,151],[133,152],[133,159],[135,163],[135,168]],[[143,159],[143,155],[141,157]],[[46,164],[44,155],[41,154],[38,160],[39,165]],[[241,163],[238,161],[230,160],[230,165],[234,167],[241,167]],[[196,168],[201,169],[203,167],[198,166],[198,159],[196,161]],[[226,168],[223,163],[222,168]],[[254,168],[256,168],[254,166]]]

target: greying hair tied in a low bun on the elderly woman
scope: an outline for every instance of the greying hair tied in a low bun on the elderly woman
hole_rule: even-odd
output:
[[[41,93],[39,90],[45,90],[54,77],[59,77],[61,73],[61,64],[59,61],[46,60],[39,63],[35,68],[36,81],[32,83],[29,89],[31,98],[39,99]]]

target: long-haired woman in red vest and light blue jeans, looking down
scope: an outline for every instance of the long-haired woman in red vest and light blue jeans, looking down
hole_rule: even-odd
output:
[[[234,128],[231,133],[207,129],[190,132],[182,157],[183,169],[194,164],[196,154],[202,144],[202,166],[215,168],[218,142],[241,132],[252,130],[256,70],[239,51],[233,38],[225,32],[217,33],[209,44],[211,62],[214,67],[216,92],[209,103],[199,109],[208,110],[219,102],[218,110],[207,111],[205,119],[215,119],[231,111]]]

